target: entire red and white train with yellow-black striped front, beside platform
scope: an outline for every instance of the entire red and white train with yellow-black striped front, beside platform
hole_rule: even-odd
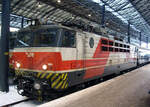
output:
[[[114,38],[60,25],[40,25],[17,32],[10,65],[23,96],[51,92],[118,74],[150,61],[150,50]]]

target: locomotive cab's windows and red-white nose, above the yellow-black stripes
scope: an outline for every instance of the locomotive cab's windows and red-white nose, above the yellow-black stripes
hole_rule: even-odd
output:
[[[10,63],[17,70],[57,71],[62,69],[57,66],[60,60],[76,58],[76,54],[75,31],[57,26],[27,28],[17,33]]]

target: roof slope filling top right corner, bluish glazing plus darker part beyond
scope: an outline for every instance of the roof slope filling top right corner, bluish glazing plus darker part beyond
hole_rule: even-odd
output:
[[[94,0],[108,5],[123,20],[129,21],[146,37],[150,35],[150,1],[149,0]],[[147,17],[149,16],[149,17]],[[122,19],[121,18],[121,19]]]

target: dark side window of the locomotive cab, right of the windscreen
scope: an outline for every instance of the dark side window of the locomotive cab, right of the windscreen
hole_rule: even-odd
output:
[[[76,37],[74,31],[64,30],[62,37],[62,47],[76,47]]]

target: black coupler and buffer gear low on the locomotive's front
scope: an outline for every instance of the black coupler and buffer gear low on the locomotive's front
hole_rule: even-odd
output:
[[[18,93],[34,99],[42,99],[47,90],[51,90],[50,84],[46,80],[30,77],[18,77]]]

